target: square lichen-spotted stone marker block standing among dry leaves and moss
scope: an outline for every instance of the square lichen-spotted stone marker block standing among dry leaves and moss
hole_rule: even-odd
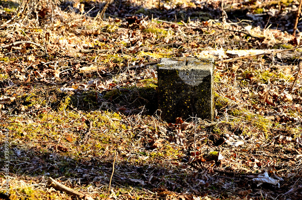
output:
[[[162,58],[157,68],[161,118],[213,120],[213,58]]]

